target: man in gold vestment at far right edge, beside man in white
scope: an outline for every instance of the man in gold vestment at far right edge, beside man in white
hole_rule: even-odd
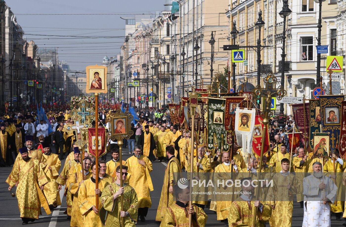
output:
[[[329,178],[335,179],[336,187],[338,188],[336,193],[336,198],[339,200],[340,198],[345,198],[345,187],[343,185],[343,175],[341,173],[346,169],[346,162],[342,158],[339,157],[339,150],[335,149],[335,153],[332,154],[332,158],[325,163],[323,166],[323,172]],[[335,159],[335,173],[333,170],[333,158]],[[337,204],[336,204],[337,203]],[[337,201],[330,205],[330,211],[335,213],[336,220],[341,220],[341,215],[344,212],[345,201]]]

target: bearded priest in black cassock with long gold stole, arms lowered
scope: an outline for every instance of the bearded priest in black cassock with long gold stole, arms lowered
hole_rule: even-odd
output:
[[[149,125],[144,126],[144,133],[139,136],[137,145],[143,147],[143,155],[147,156],[150,161],[155,161],[154,149],[156,149],[156,144],[153,134],[149,131]]]

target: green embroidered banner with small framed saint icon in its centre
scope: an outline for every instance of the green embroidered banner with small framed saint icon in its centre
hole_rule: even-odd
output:
[[[208,149],[215,147],[228,151],[225,124],[225,99],[208,98]]]

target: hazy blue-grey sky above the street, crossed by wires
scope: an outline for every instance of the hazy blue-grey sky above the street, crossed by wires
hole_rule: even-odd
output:
[[[7,0],[6,3],[16,14],[28,41],[34,40],[39,48],[56,47],[59,60],[66,60],[71,70],[85,70],[87,65],[100,64],[105,55],[119,53],[125,36],[125,20],[120,17],[162,11],[165,0]],[[100,13],[112,15],[62,15]]]

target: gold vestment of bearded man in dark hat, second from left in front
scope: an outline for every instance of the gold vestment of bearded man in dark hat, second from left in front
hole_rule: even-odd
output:
[[[61,162],[58,158],[58,155],[53,154],[52,152],[50,152],[49,155],[43,153],[43,156],[47,160],[47,166],[44,172],[48,179],[48,183],[43,188],[43,193],[45,194],[49,205],[53,204],[55,206],[60,206],[60,193],[58,191],[58,183],[56,183],[56,179],[59,176],[58,172],[60,170]],[[52,170],[49,170],[49,166],[51,166]]]

